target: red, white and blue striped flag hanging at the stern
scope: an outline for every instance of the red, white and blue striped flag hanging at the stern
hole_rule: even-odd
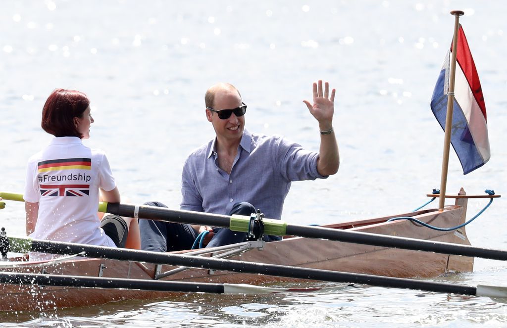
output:
[[[452,114],[451,144],[463,174],[483,166],[490,158],[486,105],[481,82],[461,24],[456,46],[456,79]],[[451,47],[444,60],[431,97],[431,111],[445,130]]]

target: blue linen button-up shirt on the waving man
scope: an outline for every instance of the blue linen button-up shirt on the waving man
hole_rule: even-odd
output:
[[[228,214],[237,202],[249,202],[267,218],[280,219],[292,181],[326,178],[317,171],[318,153],[280,135],[243,130],[231,174],[218,165],[216,137],[194,151],[182,174],[181,209]]]

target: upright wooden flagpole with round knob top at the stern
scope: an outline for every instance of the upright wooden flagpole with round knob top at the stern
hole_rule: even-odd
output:
[[[456,52],[458,44],[459,16],[464,15],[460,10],[451,11],[454,19],[454,37],[452,38],[452,59],[449,72],[449,92],[447,93],[447,115],[445,120],[444,156],[442,158],[442,176],[440,179],[439,209],[444,209],[447,185],[447,171],[449,168],[449,151],[451,148],[452,110],[454,104],[454,79],[456,77]]]

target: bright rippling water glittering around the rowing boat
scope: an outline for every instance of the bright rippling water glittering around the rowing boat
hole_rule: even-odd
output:
[[[451,154],[448,191],[502,193],[507,154],[507,44],[501,2],[477,1],[4,1],[0,4],[0,190],[22,192],[27,158],[50,136],[42,105],[57,87],[86,92],[95,123],[86,144],[104,149],[124,199],[177,207],[186,156],[213,136],[203,95],[236,85],[251,131],[279,133],[317,150],[302,103],[311,83],[337,89],[341,167],[293,184],[283,217],[332,223],[411,210],[440,187],[443,132],[429,100],[461,18],[479,70],[492,157],[466,176]],[[485,205],[470,201],[468,217]],[[436,205],[435,205],[436,206]],[[474,245],[507,249],[502,198],[467,227]],[[0,212],[24,233],[21,204]],[[436,280],[502,284],[503,262]],[[0,316],[23,326],[504,326],[503,304],[374,287],[271,296],[187,295],[163,301]]]

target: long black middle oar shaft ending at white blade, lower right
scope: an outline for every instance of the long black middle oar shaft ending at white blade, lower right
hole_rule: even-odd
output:
[[[200,269],[225,270],[252,274],[265,274],[298,279],[310,279],[331,282],[354,282],[379,287],[396,287],[416,290],[476,295],[476,287],[459,284],[438,283],[423,280],[382,277],[375,275],[347,273],[331,270],[290,267],[275,264],[253,263],[233,260],[211,259],[204,257],[184,256],[180,254],[160,253],[153,251],[91,246],[55,241],[33,240],[32,251],[51,252],[56,254],[80,253],[87,257],[167,264]]]

